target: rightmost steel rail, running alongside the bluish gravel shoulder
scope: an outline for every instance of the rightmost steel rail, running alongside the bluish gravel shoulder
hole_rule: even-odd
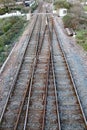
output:
[[[77,97],[77,101],[78,101],[78,104],[79,104],[79,107],[80,107],[81,114],[82,114],[82,116],[83,116],[83,120],[84,120],[85,126],[86,126],[86,128],[87,128],[86,117],[85,117],[85,114],[84,114],[84,111],[83,111],[83,108],[82,108],[82,105],[81,105],[81,101],[80,101],[78,92],[77,92],[77,90],[76,90],[76,85],[75,85],[75,82],[74,82],[74,79],[73,79],[72,71],[71,71],[70,66],[69,66],[69,63],[68,63],[68,61],[67,61],[67,58],[66,58],[66,55],[65,55],[63,46],[62,46],[62,41],[61,41],[61,39],[58,38],[58,33],[57,33],[57,30],[56,30],[56,26],[55,26],[54,20],[53,20],[53,26],[54,26],[54,30],[55,30],[55,33],[56,33],[57,41],[58,41],[58,43],[59,43],[60,50],[61,50],[61,52],[62,52],[62,54],[63,54],[63,56],[64,56],[66,66],[67,66],[67,68],[68,68],[68,74],[69,74],[69,77],[70,77],[70,79],[71,79],[71,82],[72,82],[72,85],[73,85],[73,88],[74,88],[75,95],[76,95],[76,97]]]

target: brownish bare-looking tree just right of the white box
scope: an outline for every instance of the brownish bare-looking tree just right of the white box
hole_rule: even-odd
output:
[[[74,4],[70,8],[69,14],[63,18],[65,27],[78,29],[82,16],[83,16],[83,8],[81,4],[80,3]]]

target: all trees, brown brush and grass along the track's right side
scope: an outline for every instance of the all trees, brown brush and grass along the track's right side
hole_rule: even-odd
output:
[[[57,3],[57,4],[56,4]],[[64,0],[56,1],[54,6],[58,8],[67,8],[68,14],[63,17],[65,28],[72,28],[76,32],[76,41],[87,51],[87,6],[82,7],[81,4],[69,5]]]

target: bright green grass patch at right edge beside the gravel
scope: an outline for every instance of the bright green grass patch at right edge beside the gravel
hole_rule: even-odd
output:
[[[87,51],[87,30],[77,31],[77,43],[81,45],[85,51]]]

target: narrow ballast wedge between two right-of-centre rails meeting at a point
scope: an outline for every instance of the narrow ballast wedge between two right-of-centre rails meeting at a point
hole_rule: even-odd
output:
[[[48,86],[47,86],[47,99],[45,110],[45,128],[44,130],[59,130],[60,119],[58,112],[57,90],[55,85],[55,74],[53,67],[52,54],[50,57],[49,74],[48,74]]]

